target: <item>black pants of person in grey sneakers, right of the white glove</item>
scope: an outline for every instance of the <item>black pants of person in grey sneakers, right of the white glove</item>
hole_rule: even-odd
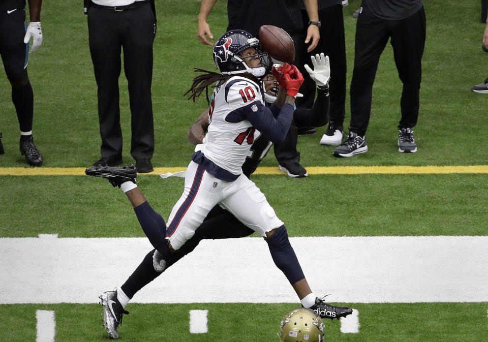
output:
[[[389,38],[396,69],[403,83],[399,128],[414,127],[417,123],[422,77],[421,61],[425,44],[423,7],[414,15],[402,20],[380,19],[370,13],[367,7],[363,7],[356,24],[349,126],[349,131],[361,136],[368,129],[373,82],[380,55]]]

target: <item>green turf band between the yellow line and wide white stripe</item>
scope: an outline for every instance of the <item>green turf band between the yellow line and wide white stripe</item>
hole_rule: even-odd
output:
[[[484,174],[253,179],[291,236],[485,235],[488,228]],[[182,179],[140,175],[138,184],[167,219],[181,195]],[[124,194],[105,179],[2,176],[0,188],[5,190],[0,236],[144,236]]]

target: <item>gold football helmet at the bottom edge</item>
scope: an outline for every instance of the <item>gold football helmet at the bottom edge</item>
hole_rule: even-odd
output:
[[[322,342],[324,323],[313,310],[299,307],[283,317],[279,336],[282,342]]]

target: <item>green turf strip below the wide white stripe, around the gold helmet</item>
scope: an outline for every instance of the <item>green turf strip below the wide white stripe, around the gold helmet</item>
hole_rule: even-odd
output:
[[[479,342],[486,336],[488,303],[345,303],[359,312],[359,333],[342,333],[325,320],[325,341]],[[287,304],[129,304],[120,341],[278,341]],[[34,341],[36,310],[54,310],[56,342],[109,340],[98,304],[0,305],[0,340]],[[189,310],[208,309],[208,332],[189,332]],[[8,328],[7,328],[8,327]]]

